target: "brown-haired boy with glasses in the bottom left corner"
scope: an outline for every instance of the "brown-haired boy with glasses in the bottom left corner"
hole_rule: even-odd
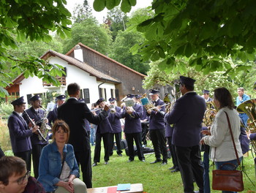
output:
[[[26,170],[26,162],[17,156],[3,156],[0,159],[1,193],[45,193],[36,178]]]

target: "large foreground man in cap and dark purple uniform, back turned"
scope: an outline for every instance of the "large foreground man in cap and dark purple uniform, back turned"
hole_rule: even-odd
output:
[[[173,109],[165,115],[165,121],[174,124],[172,143],[176,146],[184,192],[194,192],[194,176],[199,192],[203,193],[203,164],[199,143],[206,102],[195,93],[194,83],[195,80],[190,77],[180,77],[183,96],[176,100]]]

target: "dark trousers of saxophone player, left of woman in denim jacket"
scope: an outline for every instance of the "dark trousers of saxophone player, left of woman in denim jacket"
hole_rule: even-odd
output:
[[[45,147],[46,144],[32,144],[32,160],[33,160],[33,168],[34,168],[34,178],[38,178],[39,176],[39,158],[41,156],[42,148]]]

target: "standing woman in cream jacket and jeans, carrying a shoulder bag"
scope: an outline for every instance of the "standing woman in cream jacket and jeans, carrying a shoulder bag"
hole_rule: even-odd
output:
[[[215,162],[218,170],[220,170],[222,164],[225,163],[231,163],[237,167],[238,160],[233,147],[227,116],[230,119],[230,126],[236,144],[238,157],[241,161],[243,154],[239,141],[239,135],[241,133],[240,118],[233,104],[233,98],[230,91],[228,91],[227,88],[216,88],[214,90],[214,103],[218,107],[219,111],[211,125],[211,130],[202,131],[203,135],[207,136],[203,137],[200,143],[211,146],[211,159]],[[225,112],[227,113],[227,116]],[[221,167],[221,170],[235,170],[236,167],[234,168],[230,164],[225,164]]]

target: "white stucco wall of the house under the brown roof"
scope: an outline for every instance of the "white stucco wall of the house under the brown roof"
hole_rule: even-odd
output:
[[[102,82],[97,81],[96,77],[90,76],[88,72],[85,72],[82,69],[79,69],[78,67],[67,64],[67,61],[62,60],[61,58],[50,57],[49,61],[51,64],[59,64],[67,68],[67,86],[69,85],[69,83],[78,83],[81,89],[89,88],[90,102],[97,102],[97,99],[99,99],[98,86]],[[39,79],[38,77],[29,77],[21,81],[20,96],[24,96],[24,99],[27,100],[27,94],[45,93],[46,91],[56,91],[58,93],[64,94],[64,92],[67,90],[67,86],[43,87],[41,79]],[[104,83],[99,87],[106,88],[107,100],[111,97],[110,89],[115,89],[115,85],[110,83]],[[87,104],[89,108],[91,107],[91,103]]]

